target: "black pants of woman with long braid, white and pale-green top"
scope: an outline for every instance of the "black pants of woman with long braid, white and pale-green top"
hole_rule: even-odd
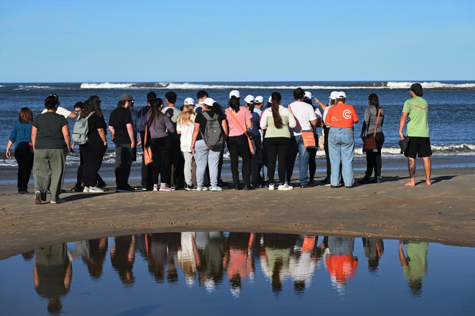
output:
[[[288,137],[269,137],[264,141],[267,153],[267,177],[269,183],[274,183],[275,162],[278,160],[279,183],[286,181],[286,158],[291,139]]]

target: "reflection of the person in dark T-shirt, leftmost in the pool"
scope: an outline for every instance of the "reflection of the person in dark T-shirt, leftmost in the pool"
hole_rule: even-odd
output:
[[[35,251],[33,281],[38,295],[48,299],[50,313],[61,310],[60,297],[69,292],[72,266],[66,244],[44,247]]]

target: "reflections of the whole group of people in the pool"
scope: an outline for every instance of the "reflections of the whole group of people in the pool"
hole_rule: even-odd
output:
[[[80,259],[91,279],[100,280],[107,269],[108,247],[111,266],[124,287],[135,285],[137,252],[143,259],[139,259],[140,266],[144,262],[157,283],[177,284],[179,278],[183,278],[186,286],[198,285],[210,293],[219,284],[229,281],[234,298],[239,298],[249,291],[248,286],[253,286],[256,268],[274,295],[280,295],[289,283],[296,294],[304,295],[312,284],[315,286],[318,269],[328,272],[320,273],[318,279],[323,281],[325,275],[329,275],[336,293],[343,295],[358,268],[358,257],[353,254],[354,238],[348,237],[328,236],[319,240],[318,236],[309,235],[183,232],[120,236],[113,240],[112,246],[108,245],[108,238],[75,242],[74,251],[70,248],[69,254],[66,244],[22,254],[25,261],[35,258],[35,289],[38,295],[48,299],[49,312],[60,311],[61,298],[69,292],[72,279],[69,258]],[[369,275],[378,277],[376,272],[381,269],[380,261],[385,251],[383,240],[362,238],[362,250],[367,258]],[[396,256],[396,252],[393,253]],[[422,295],[427,255],[426,242],[399,243],[404,278],[408,280],[413,296]]]

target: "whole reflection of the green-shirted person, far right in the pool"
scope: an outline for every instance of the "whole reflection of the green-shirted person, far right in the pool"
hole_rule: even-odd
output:
[[[422,279],[427,274],[429,243],[409,241],[406,245],[407,257],[404,256],[403,242],[399,243],[399,260],[403,266],[404,276],[409,281],[412,295],[420,296]]]

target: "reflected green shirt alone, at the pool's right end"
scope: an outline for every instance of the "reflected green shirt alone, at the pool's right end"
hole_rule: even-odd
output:
[[[427,274],[427,252],[429,243],[426,242],[408,242],[407,244],[407,262],[403,267],[404,276],[408,280],[422,279]]]

